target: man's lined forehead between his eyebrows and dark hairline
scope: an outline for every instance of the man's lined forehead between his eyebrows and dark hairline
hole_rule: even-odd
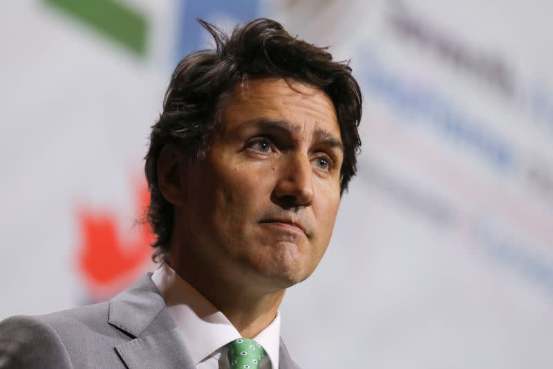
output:
[[[296,80],[259,78],[234,87],[223,109],[226,128],[259,118],[286,121],[299,135],[324,131],[340,137],[332,100],[324,91]]]

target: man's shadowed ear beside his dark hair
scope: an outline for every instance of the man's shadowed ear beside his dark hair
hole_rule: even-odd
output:
[[[186,186],[187,161],[183,150],[167,144],[158,157],[158,186],[161,194],[173,205],[185,204],[188,197]]]

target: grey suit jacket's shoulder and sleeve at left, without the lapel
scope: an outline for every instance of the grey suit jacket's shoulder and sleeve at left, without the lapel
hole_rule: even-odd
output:
[[[108,319],[107,302],[41,316],[12,316],[0,323],[0,358],[11,357],[8,368],[115,368],[120,360],[113,348],[129,336]],[[22,361],[27,357],[40,365]],[[44,364],[45,359],[52,366]]]

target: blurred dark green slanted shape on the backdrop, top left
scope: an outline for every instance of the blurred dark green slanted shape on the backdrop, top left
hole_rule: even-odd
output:
[[[146,53],[148,22],[135,9],[115,0],[44,0],[139,56]]]

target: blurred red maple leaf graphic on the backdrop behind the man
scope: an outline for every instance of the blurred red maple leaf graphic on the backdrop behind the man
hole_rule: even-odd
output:
[[[147,186],[137,191],[137,208],[139,215],[149,204]],[[115,284],[121,284],[122,279],[142,272],[150,260],[153,235],[149,224],[135,224],[138,235],[129,234],[122,237],[115,215],[102,211],[90,210],[79,212],[79,223],[82,229],[82,244],[79,249],[79,270],[92,289],[102,291],[116,289]],[[129,227],[129,231],[131,228]],[[124,233],[123,233],[124,234]],[[113,294],[116,291],[109,291]],[[98,294],[98,293],[96,293]],[[103,298],[104,296],[100,297]]]

